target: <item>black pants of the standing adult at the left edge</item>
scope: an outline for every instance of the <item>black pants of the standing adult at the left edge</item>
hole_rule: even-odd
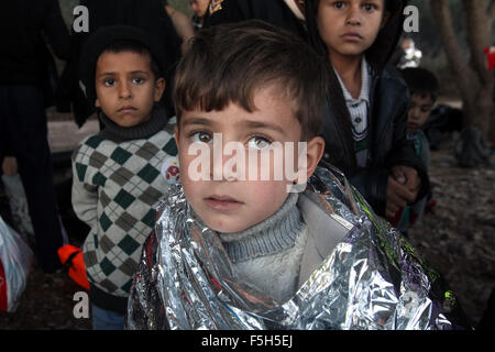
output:
[[[0,85],[0,162],[15,156],[33,223],[36,256],[46,273],[61,268],[62,227],[53,185],[43,94],[29,85]]]

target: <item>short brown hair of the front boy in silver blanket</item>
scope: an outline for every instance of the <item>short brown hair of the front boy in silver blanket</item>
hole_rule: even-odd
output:
[[[324,62],[302,40],[266,22],[205,29],[177,66],[177,125],[184,111],[218,111],[230,102],[252,112],[256,89],[276,85],[292,102],[302,139],[309,140],[320,133],[324,72]]]

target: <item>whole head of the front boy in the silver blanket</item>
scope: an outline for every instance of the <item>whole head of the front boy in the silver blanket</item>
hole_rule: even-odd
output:
[[[184,191],[207,226],[243,231],[282,207],[287,186],[312,174],[324,147],[324,69],[301,40],[264,22],[197,34],[173,96]]]

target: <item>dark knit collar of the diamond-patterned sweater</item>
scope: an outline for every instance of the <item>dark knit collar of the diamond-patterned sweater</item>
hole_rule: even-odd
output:
[[[152,114],[147,121],[131,128],[118,125],[102,112],[98,113],[98,118],[105,125],[99,135],[116,143],[148,139],[163,130],[168,120],[166,109],[158,105],[153,107]]]

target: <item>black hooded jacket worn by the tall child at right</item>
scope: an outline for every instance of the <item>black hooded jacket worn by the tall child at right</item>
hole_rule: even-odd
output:
[[[393,7],[391,18],[374,44],[365,52],[366,61],[372,67],[369,109],[370,158],[365,168],[356,165],[349,110],[342,88],[331,67],[328,69],[330,79],[328,105],[322,121],[322,136],[326,141],[322,164],[330,163],[340,168],[381,216],[385,215],[387,183],[393,166],[410,166],[418,172],[421,189],[417,199],[429,190],[426,167],[416,155],[413,143],[406,139],[408,87],[393,67],[386,66],[400,37],[404,23],[403,1],[389,2]],[[306,1],[308,36],[317,52],[328,57],[327,48],[318,34],[316,9],[318,0]]]

